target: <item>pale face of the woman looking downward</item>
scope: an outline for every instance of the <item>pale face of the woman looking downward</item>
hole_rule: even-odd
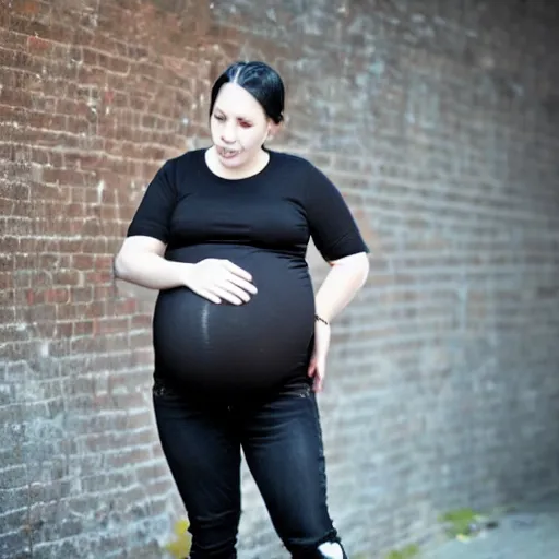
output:
[[[250,93],[235,83],[222,86],[215,99],[210,129],[224,167],[250,166],[272,127],[264,109]]]

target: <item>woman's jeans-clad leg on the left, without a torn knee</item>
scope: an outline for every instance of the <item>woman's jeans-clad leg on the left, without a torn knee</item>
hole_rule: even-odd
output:
[[[235,559],[240,518],[240,442],[226,406],[195,405],[154,390],[163,452],[187,509],[191,559]]]

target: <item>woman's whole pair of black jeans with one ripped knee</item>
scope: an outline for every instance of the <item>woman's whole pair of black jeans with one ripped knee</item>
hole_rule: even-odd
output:
[[[293,558],[341,557],[326,508],[314,393],[305,384],[259,403],[210,403],[154,386],[163,451],[190,521],[191,559],[235,559],[241,448],[272,523]],[[324,546],[322,546],[324,547]]]

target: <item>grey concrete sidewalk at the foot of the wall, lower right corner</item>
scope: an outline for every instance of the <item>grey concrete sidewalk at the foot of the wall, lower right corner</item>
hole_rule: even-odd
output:
[[[421,559],[559,559],[559,492],[523,504],[468,543],[451,540]]]

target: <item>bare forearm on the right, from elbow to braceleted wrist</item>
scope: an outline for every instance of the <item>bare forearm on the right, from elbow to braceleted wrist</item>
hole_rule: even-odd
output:
[[[359,253],[334,262],[316,296],[317,314],[330,322],[355,297],[369,274],[367,254]]]

